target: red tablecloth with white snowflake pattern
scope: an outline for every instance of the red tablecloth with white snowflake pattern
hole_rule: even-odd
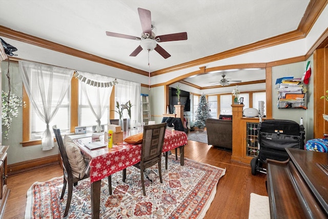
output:
[[[84,155],[90,158],[91,183],[140,162],[141,144],[121,143],[113,145],[113,148],[104,147],[89,150],[84,146],[84,143],[90,142],[91,137],[79,138],[74,141]],[[171,130],[166,130],[162,151],[167,152],[187,143],[188,138],[185,132],[175,131],[172,134]]]

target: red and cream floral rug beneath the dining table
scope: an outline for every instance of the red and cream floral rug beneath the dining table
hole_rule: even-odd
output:
[[[163,158],[164,159],[164,158]],[[226,169],[169,156],[168,170],[162,159],[163,183],[150,170],[153,182],[145,177],[146,196],[142,195],[140,170],[127,168],[112,175],[113,194],[109,195],[107,178],[101,180],[100,218],[202,218],[213,201],[219,179]],[[59,200],[63,177],[34,183],[27,193],[25,218],[62,218],[67,200]],[[73,189],[71,207],[66,218],[91,218],[90,178],[79,181]]]

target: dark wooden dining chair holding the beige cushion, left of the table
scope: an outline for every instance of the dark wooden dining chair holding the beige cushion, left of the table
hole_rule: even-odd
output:
[[[75,177],[72,172],[71,165],[69,163],[69,158],[67,156],[66,148],[63,142],[63,137],[61,137],[60,130],[57,129],[56,125],[52,127],[53,132],[56,137],[57,145],[60,152],[61,161],[63,162],[63,171],[64,171],[64,183],[63,183],[63,190],[61,190],[60,199],[64,198],[66,185],[68,184],[68,194],[67,194],[67,202],[64,212],[64,217],[67,216],[68,210],[71,205],[72,200],[72,193],[73,193],[73,186],[77,185],[77,182],[80,180],[84,180],[88,178],[89,175],[85,174],[83,177]],[[77,147],[77,146],[76,146]],[[112,183],[111,183],[111,176],[108,176],[108,187],[109,193],[112,194]]]

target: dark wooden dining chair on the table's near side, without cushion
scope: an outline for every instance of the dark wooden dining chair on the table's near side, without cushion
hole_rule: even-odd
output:
[[[166,123],[144,126],[142,137],[141,161],[134,166],[140,169],[142,192],[146,195],[144,172],[155,164],[158,164],[160,183],[163,183],[161,173],[161,153],[166,130]],[[126,179],[126,169],[123,170],[123,182]]]

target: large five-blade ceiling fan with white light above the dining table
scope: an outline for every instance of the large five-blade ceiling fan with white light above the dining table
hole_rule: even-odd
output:
[[[130,54],[130,56],[136,56],[137,54],[139,54],[139,52],[141,52],[142,49],[145,49],[148,51],[155,50],[161,56],[163,56],[163,58],[168,58],[171,55],[165,49],[159,46],[158,43],[168,41],[184,41],[187,39],[187,32],[156,36],[154,32],[152,32],[153,26],[150,11],[147,9],[138,8],[138,13],[142,28],[141,37],[106,31],[106,34],[108,36],[135,39],[137,41],[140,41],[140,45]]]

